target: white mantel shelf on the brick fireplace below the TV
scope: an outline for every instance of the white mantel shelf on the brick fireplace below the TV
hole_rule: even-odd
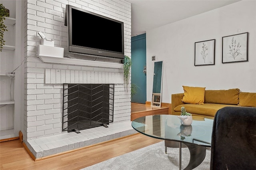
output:
[[[84,59],[73,59],[73,58],[62,58],[62,57],[48,57],[38,56],[44,63],[59,63],[59,64],[70,64],[70,65],[85,65],[91,67],[105,67],[123,69],[124,65],[121,63],[109,63],[103,61],[90,61]]]

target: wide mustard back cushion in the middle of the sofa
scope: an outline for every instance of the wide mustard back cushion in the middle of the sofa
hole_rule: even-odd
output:
[[[240,89],[206,90],[204,102],[237,105],[239,102],[239,92]]]

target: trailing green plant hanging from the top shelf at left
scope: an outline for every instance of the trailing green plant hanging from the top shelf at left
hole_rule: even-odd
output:
[[[9,16],[9,10],[7,10],[3,4],[0,4],[0,51],[2,51],[4,45],[4,32],[8,31],[4,25],[5,17]]]

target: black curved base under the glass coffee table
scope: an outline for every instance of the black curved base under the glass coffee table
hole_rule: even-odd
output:
[[[190,160],[189,160],[188,166],[184,170],[192,170],[203,162],[206,156],[206,147],[195,145],[195,144],[188,144],[188,143],[184,143],[184,144],[188,146],[188,149],[190,152]],[[180,155],[180,159],[181,159],[181,155]],[[180,162],[180,166],[181,166],[181,162]]]

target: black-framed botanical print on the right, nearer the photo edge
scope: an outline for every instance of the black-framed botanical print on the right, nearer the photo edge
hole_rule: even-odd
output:
[[[222,37],[222,63],[248,61],[248,32]]]

